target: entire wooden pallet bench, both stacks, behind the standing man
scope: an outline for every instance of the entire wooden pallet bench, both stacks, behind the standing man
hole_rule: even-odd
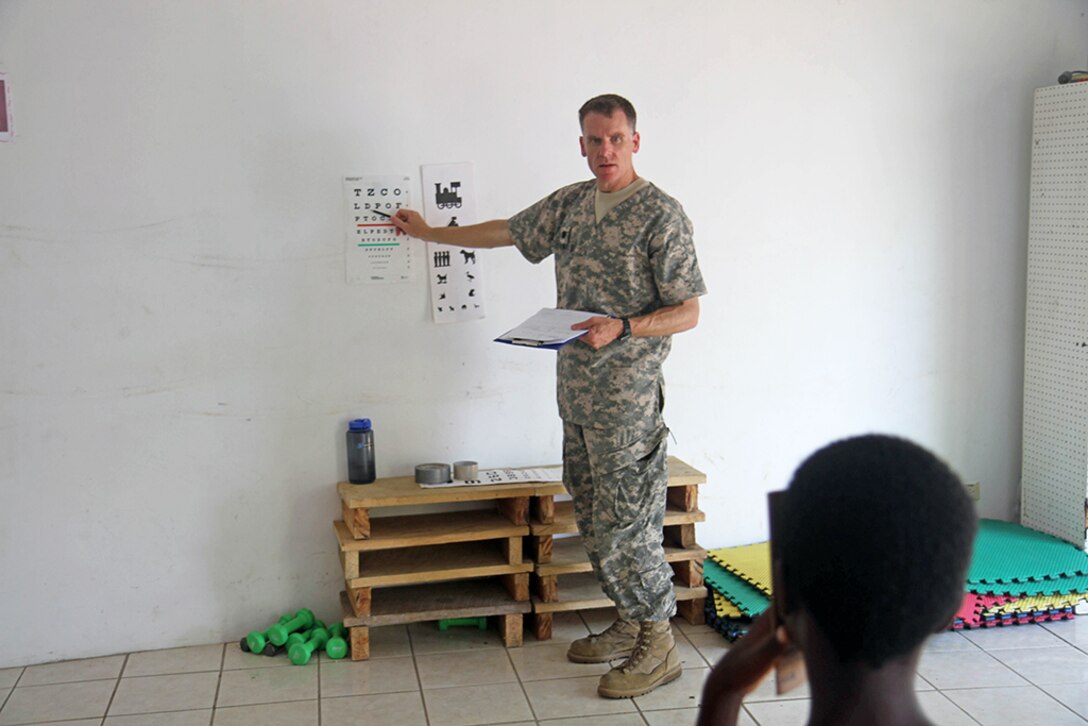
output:
[[[706,476],[669,457],[665,553],[680,614],[702,623],[706,588],[695,543],[698,485]],[[333,522],[344,568],[341,602],[351,659],[370,657],[370,627],[495,617],[507,647],[522,642],[531,614],[540,640],[554,613],[607,607],[577,534],[573,508],[555,482],[424,489],[413,477],[337,484],[343,519]],[[431,505],[475,503],[434,513]],[[398,507],[393,516],[372,510]],[[422,508],[421,512],[418,509]],[[407,514],[405,514],[407,512]],[[560,536],[560,537],[556,537]],[[528,543],[532,559],[526,559]],[[535,596],[530,598],[530,576]]]

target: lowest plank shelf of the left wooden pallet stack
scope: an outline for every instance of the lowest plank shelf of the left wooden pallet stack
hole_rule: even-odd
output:
[[[375,590],[366,617],[357,616],[347,593],[341,592],[341,610],[344,627],[354,628],[529,613],[532,602],[514,600],[498,578],[485,578]]]

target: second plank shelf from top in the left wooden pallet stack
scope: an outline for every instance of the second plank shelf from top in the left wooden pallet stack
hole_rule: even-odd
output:
[[[395,550],[397,547],[495,540],[529,533],[524,524],[515,525],[492,508],[438,514],[374,517],[370,519],[370,537],[356,539],[343,521],[334,521],[341,552]]]

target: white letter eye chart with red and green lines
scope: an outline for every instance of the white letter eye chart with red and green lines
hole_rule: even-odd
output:
[[[347,235],[344,259],[349,285],[412,280],[416,263],[410,237],[390,216],[410,207],[407,176],[346,176]]]

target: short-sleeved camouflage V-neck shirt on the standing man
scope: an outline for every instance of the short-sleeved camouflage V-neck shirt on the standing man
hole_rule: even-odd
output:
[[[564,187],[509,220],[531,262],[555,255],[557,304],[636,318],[703,295],[692,227],[680,204],[653,184],[598,223],[596,181]],[[662,364],[672,339],[629,337],[599,350],[576,341],[558,355],[559,416],[596,428],[658,420]]]

